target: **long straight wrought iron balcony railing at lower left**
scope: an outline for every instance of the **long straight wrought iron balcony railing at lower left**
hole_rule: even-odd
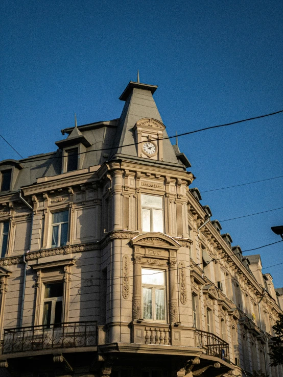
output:
[[[97,322],[65,322],[4,330],[3,354],[97,345]]]

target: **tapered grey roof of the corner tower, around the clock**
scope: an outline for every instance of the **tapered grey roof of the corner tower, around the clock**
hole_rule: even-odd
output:
[[[113,146],[119,147],[113,149],[111,158],[114,156],[131,156],[143,160],[144,162],[145,159],[137,156],[136,145],[126,145],[134,144],[136,142],[133,128],[138,120],[143,118],[153,118],[162,122],[152,96],[156,89],[156,85],[136,83],[133,81],[129,82],[128,86],[120,96],[120,99],[125,101],[125,106],[120,117],[115,141],[113,143]],[[163,137],[167,136],[166,131],[164,131]],[[147,160],[147,162],[149,162],[149,160]],[[170,139],[163,140],[163,162],[176,164],[179,168],[183,168],[176,157]]]

